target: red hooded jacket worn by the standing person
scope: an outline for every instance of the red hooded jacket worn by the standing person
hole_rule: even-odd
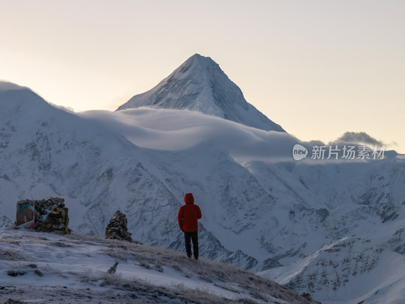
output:
[[[194,232],[198,230],[198,219],[201,218],[201,210],[194,205],[194,197],[191,193],[184,196],[185,205],[180,207],[177,219],[180,229],[185,232]]]

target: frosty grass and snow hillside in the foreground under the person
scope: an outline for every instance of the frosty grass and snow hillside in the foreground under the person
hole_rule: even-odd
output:
[[[108,274],[115,261],[116,273]],[[0,232],[0,300],[8,298],[52,298],[59,303],[307,302],[272,281],[205,258],[196,261],[168,249],[25,230]]]

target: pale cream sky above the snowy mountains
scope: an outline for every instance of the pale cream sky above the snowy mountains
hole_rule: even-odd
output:
[[[405,1],[0,0],[0,80],[76,111],[195,53],[301,140],[364,131],[405,153]]]

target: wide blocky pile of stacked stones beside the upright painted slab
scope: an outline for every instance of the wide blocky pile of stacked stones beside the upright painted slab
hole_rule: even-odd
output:
[[[69,209],[65,207],[65,200],[50,198],[49,200],[34,201],[35,224],[34,229],[39,232],[53,232],[55,234],[69,234]]]

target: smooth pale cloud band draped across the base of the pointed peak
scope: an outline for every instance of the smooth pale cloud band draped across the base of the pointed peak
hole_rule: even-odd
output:
[[[141,147],[183,150],[208,141],[239,161],[291,161],[292,148],[300,142],[285,132],[263,131],[190,110],[140,107],[76,115],[96,120]]]

